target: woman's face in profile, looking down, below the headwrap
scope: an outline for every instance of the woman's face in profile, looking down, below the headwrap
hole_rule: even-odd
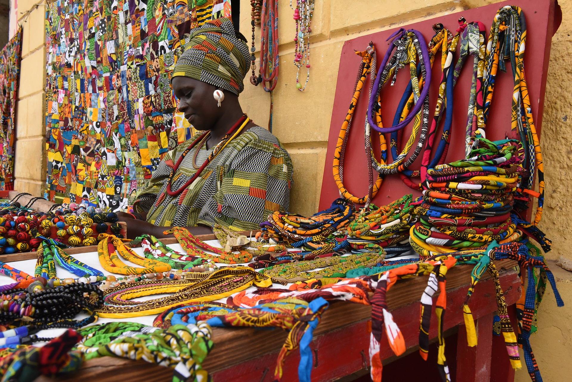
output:
[[[172,81],[178,110],[197,130],[211,129],[219,120],[221,109],[213,97],[216,87],[194,78],[177,76]]]

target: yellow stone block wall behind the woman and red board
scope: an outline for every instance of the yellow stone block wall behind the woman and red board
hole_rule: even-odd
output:
[[[14,0],[11,0],[12,4]],[[273,132],[284,143],[295,166],[295,185],[291,210],[301,214],[316,212],[319,201],[328,130],[335,94],[341,47],[347,39],[376,31],[470,9],[496,1],[487,0],[316,0],[312,23],[311,79],[304,93],[296,90],[293,66],[294,24],[289,1],[280,0],[280,79],[274,92]],[[30,10],[37,0],[18,0],[18,17]],[[560,0],[562,13],[570,14],[572,0]],[[526,11],[526,10],[525,10]],[[43,6],[31,11],[23,24],[21,86],[18,104],[15,189],[34,196],[43,193],[46,159],[43,145],[45,93],[45,53],[43,49]],[[241,0],[241,32],[250,39],[250,2]],[[566,18],[565,18],[566,20]],[[490,22],[490,21],[485,21]],[[554,241],[547,257],[572,253],[572,25],[562,23],[553,38],[542,145],[545,154],[546,202],[541,228]],[[256,30],[259,46],[260,30]],[[302,74],[304,78],[305,72]],[[240,100],[245,112],[261,126],[268,125],[270,97],[260,87],[245,84]],[[569,121],[570,115],[570,121]],[[554,264],[554,263],[552,263]],[[553,265],[555,267],[555,265]],[[547,292],[538,319],[539,335],[532,340],[539,366],[546,381],[563,381],[572,375],[572,284],[570,273],[558,269],[559,288],[567,308],[555,308]],[[491,291],[492,292],[492,291]],[[530,380],[526,368],[517,372],[516,380]]]

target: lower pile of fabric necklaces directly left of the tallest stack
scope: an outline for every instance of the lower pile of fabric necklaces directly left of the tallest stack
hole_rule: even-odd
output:
[[[374,204],[360,210],[358,218],[349,223],[347,241],[352,253],[376,252],[383,258],[412,254],[409,230],[415,223],[411,194],[391,204]]]

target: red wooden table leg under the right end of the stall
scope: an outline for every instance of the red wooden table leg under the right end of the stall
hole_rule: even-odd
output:
[[[492,353],[492,317],[495,313],[475,320],[478,345],[467,345],[464,324],[459,325],[455,382],[490,382]]]

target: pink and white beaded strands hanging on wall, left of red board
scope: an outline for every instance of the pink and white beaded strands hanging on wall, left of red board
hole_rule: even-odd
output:
[[[294,36],[294,65],[298,68],[296,72],[296,89],[304,91],[310,80],[310,34],[312,33],[311,23],[314,13],[314,0],[296,0],[293,19],[296,21],[296,35]],[[300,69],[305,66],[307,69],[304,86],[300,83]]]

